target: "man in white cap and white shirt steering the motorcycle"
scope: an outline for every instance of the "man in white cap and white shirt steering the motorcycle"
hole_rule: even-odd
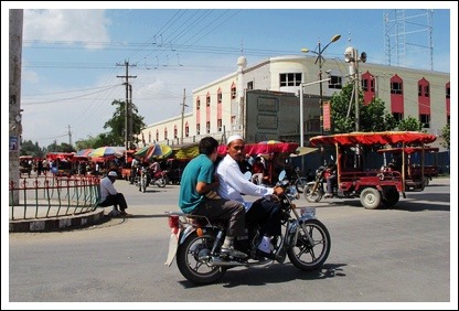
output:
[[[265,187],[256,185],[244,176],[237,164],[245,159],[245,141],[242,136],[231,136],[227,139],[226,149],[227,154],[216,168],[220,180],[218,195],[243,203],[246,208],[246,222],[261,224],[263,238],[258,245],[258,255],[275,259],[271,253],[271,237],[279,236],[281,233],[281,210],[279,202],[274,201],[271,195],[282,195],[285,190],[280,186]],[[242,193],[261,196],[261,199],[255,202],[246,202]]]

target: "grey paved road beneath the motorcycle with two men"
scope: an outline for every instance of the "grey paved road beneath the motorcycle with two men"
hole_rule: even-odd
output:
[[[205,287],[190,285],[175,262],[163,265],[170,233],[163,213],[179,211],[179,186],[149,187],[147,193],[121,180],[116,186],[127,196],[132,218],[71,232],[9,234],[10,302],[149,302],[154,304],[147,308],[166,309],[171,304],[157,303],[264,301],[311,309],[313,302],[354,302],[377,309],[384,308],[381,302],[408,302],[423,309],[426,304],[416,302],[436,302],[428,308],[457,309],[450,288],[452,283],[457,292],[457,275],[450,270],[452,249],[457,272],[457,248],[450,245],[447,179],[435,179],[424,192],[407,193],[394,208],[369,211],[357,200],[317,203],[317,215],[332,239],[330,256],[318,271],[302,272],[287,260],[263,269],[230,270],[221,282]],[[297,204],[310,206],[305,199]],[[457,225],[453,232],[457,235]],[[395,305],[385,308],[406,307]],[[265,307],[271,308],[289,307]]]

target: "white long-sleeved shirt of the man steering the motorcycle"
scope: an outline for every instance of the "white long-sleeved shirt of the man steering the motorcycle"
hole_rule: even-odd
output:
[[[226,154],[216,168],[218,175],[218,195],[226,200],[234,200],[244,204],[248,211],[253,202],[246,202],[242,193],[254,196],[269,196],[274,193],[273,187],[257,185],[247,180],[239,170],[236,160]]]

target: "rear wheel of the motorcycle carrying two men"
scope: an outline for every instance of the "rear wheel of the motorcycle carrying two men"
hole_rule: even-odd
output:
[[[210,267],[206,264],[211,256],[216,235],[204,233],[198,236],[195,232],[179,245],[177,266],[182,276],[195,285],[209,285],[220,280],[226,270],[222,267]]]

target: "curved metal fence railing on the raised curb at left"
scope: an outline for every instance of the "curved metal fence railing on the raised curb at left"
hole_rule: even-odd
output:
[[[10,221],[88,213],[100,200],[97,176],[21,178],[9,183]]]

